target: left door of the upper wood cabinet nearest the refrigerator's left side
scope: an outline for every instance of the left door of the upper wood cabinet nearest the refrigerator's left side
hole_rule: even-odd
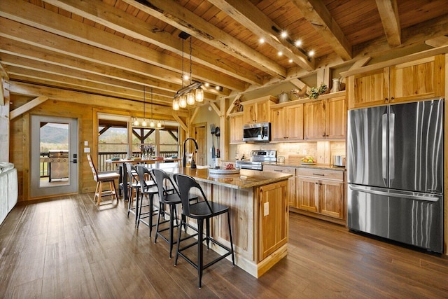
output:
[[[304,139],[325,138],[323,101],[304,104]]]

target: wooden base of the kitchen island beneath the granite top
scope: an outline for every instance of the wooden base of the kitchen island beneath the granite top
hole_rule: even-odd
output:
[[[208,200],[230,207],[235,263],[260,277],[288,253],[288,181],[254,188],[200,182]],[[195,221],[191,224],[196,226]],[[211,221],[211,236],[230,246],[227,216]],[[223,253],[219,246],[211,249]],[[230,256],[227,257],[231,260]]]

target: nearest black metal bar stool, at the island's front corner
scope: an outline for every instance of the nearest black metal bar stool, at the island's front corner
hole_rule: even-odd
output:
[[[230,228],[230,214],[229,214],[229,207],[218,204],[216,202],[209,202],[207,200],[207,197],[204,194],[204,191],[202,190],[201,186],[193,177],[187,176],[185,174],[174,174],[174,180],[177,183],[177,186],[179,188],[179,193],[181,195],[181,202],[182,202],[182,215],[186,216],[188,218],[193,218],[197,220],[197,242],[194,242],[193,244],[188,244],[184,247],[181,247],[181,242],[185,241],[186,239],[190,239],[191,237],[195,237],[195,235],[191,235],[188,237],[184,237],[181,239],[181,230],[178,230],[178,237],[177,237],[177,250],[176,250],[176,260],[174,260],[174,265],[177,264],[177,258],[179,256],[182,256],[185,260],[190,263],[190,265],[193,265],[197,269],[197,275],[199,278],[199,288],[202,287],[202,271],[206,269],[207,267],[214,265],[219,260],[222,260],[223,258],[232,255],[232,265],[235,265],[235,254],[233,252],[233,241],[232,241],[232,229]],[[201,202],[195,202],[191,203],[189,200],[189,194],[190,189],[197,189],[200,191],[200,195],[202,195],[203,201]],[[228,219],[228,226],[229,226],[229,236],[230,236],[230,248],[228,246],[225,246],[221,242],[216,241],[216,239],[213,239],[210,237],[210,219],[212,217],[225,214],[227,213],[227,219]],[[206,235],[205,240],[207,241],[207,249],[209,248],[209,242],[212,242],[221,248],[223,248],[226,252],[218,256],[218,258],[215,258],[211,262],[204,265],[203,263],[203,249],[202,249],[202,243],[204,242],[204,236],[203,236],[203,230],[204,230],[204,220],[206,221]],[[181,225],[186,222],[186,219],[181,218]],[[190,225],[188,225],[190,226]],[[183,250],[186,250],[190,248],[191,246],[194,246],[197,244],[197,263],[195,263],[193,260],[188,258],[185,254],[182,253]]]

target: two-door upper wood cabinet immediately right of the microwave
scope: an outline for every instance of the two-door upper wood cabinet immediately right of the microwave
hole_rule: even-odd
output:
[[[291,102],[275,105],[271,109],[272,141],[303,140],[303,104]]]

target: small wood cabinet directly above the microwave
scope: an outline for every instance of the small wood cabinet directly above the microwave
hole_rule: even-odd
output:
[[[271,105],[276,104],[279,100],[272,95],[251,99],[241,103],[244,107],[243,121],[244,124],[251,123],[270,123],[271,122]]]

